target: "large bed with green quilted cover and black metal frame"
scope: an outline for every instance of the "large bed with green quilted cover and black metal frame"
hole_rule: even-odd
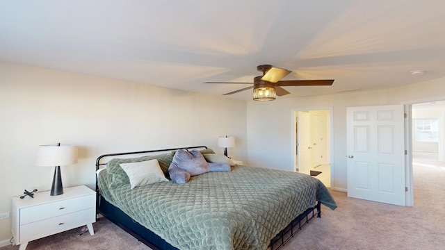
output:
[[[276,169],[235,165],[174,183],[168,167],[180,149],[99,156],[97,212],[152,249],[276,250],[321,217],[321,204],[337,208],[318,179]],[[204,146],[188,149],[214,153]],[[168,181],[131,189],[120,166],[153,159]]]

